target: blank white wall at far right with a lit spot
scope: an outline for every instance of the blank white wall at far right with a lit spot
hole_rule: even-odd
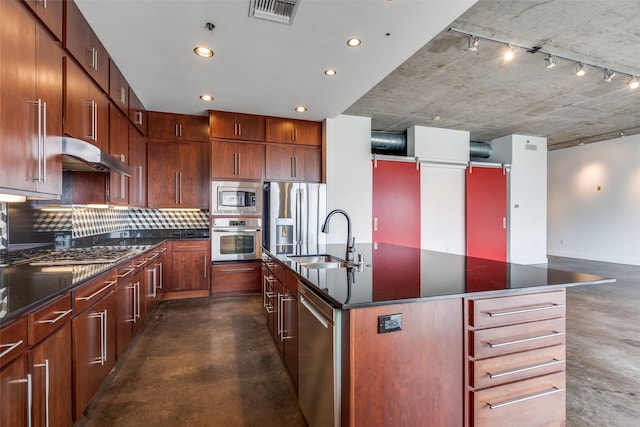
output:
[[[640,135],[548,155],[550,255],[640,265]]]

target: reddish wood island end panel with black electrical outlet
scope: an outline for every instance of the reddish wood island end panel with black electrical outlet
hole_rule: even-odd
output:
[[[402,329],[378,333],[378,316]],[[463,424],[461,299],[351,309],[343,317],[342,425]]]

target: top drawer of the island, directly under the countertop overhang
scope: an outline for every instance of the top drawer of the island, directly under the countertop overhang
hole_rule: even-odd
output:
[[[469,300],[469,324],[474,328],[511,325],[565,316],[565,291]]]

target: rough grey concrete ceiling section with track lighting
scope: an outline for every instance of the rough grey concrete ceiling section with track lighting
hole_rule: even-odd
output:
[[[445,29],[346,114],[372,117],[372,128],[402,132],[413,125],[469,130],[472,141],[509,134],[546,137],[549,150],[640,133],[639,1],[480,0],[450,28],[512,43],[480,40]],[[557,58],[546,69],[542,52]],[[575,75],[577,62],[591,64]],[[595,66],[595,67],[594,67]],[[603,80],[604,68],[618,72]],[[622,73],[626,73],[623,75]]]

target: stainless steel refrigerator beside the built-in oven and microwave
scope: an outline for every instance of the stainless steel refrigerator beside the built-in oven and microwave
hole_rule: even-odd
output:
[[[326,185],[303,182],[264,184],[263,246],[271,253],[318,253],[326,242]]]

